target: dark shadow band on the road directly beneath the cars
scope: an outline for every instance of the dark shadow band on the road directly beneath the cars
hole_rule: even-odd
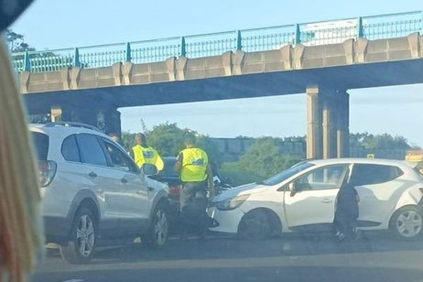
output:
[[[285,235],[271,240],[239,240],[209,238],[200,240],[169,240],[160,250],[147,250],[131,244],[97,252],[92,264],[180,259],[237,259],[297,255],[350,254],[360,252],[395,252],[423,250],[423,240],[395,240],[383,233],[364,234],[355,242],[337,242],[328,235]]]

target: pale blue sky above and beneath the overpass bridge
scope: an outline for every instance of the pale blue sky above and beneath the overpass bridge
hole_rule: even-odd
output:
[[[354,18],[423,9],[418,1],[36,0],[11,27],[37,50]],[[423,75],[423,71],[422,71]],[[423,85],[350,90],[350,132],[423,147]],[[305,95],[120,109],[122,128],[176,122],[214,137],[305,135]]]

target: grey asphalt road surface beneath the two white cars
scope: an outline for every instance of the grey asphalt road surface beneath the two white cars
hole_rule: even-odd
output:
[[[423,239],[398,241],[374,233],[353,243],[326,235],[172,239],[156,251],[136,243],[102,250],[85,265],[62,262],[50,252],[32,281],[423,281]]]

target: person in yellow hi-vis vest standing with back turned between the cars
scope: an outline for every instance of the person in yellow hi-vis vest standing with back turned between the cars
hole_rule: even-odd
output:
[[[209,157],[202,149],[195,147],[195,137],[185,138],[185,149],[179,155],[175,170],[180,173],[181,238],[185,238],[188,225],[197,227],[200,239],[204,239],[209,229],[207,215],[207,182],[209,197],[214,197],[213,172],[209,166]]]

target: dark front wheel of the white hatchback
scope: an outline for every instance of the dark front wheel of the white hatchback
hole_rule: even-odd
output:
[[[238,236],[247,240],[269,238],[272,233],[271,219],[264,210],[253,210],[241,219]]]

